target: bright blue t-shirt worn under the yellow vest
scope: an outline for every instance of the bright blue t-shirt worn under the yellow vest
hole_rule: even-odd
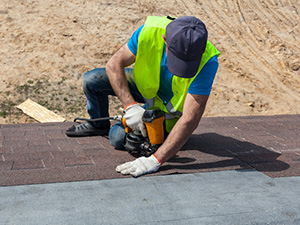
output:
[[[138,38],[143,27],[144,25],[137,29],[127,43],[129,50],[134,55],[137,53]],[[218,67],[219,63],[217,56],[210,58],[189,86],[188,93],[196,95],[210,95]],[[170,73],[167,67],[167,54],[165,45],[160,66],[160,86],[157,93],[157,95],[164,102],[169,102],[173,97],[172,78],[173,74]]]

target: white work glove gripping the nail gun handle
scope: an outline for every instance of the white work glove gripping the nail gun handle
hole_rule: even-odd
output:
[[[145,109],[143,109],[139,104],[134,104],[128,106],[125,110],[124,118],[126,120],[127,126],[132,130],[141,131],[143,137],[147,137],[147,130],[145,124],[142,120]]]

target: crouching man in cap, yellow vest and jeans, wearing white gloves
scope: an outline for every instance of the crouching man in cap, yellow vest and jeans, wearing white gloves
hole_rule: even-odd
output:
[[[218,69],[220,52],[207,40],[204,23],[193,16],[149,16],[106,68],[83,76],[87,110],[91,117],[108,116],[108,95],[124,106],[127,125],[146,135],[142,116],[146,106],[166,113],[166,140],[150,157],[139,157],[116,170],[135,177],[156,172],[174,156],[197,128]],[[135,63],[134,69],[126,68]],[[138,103],[146,103],[142,107]],[[122,123],[84,122],[66,131],[69,136],[107,135],[116,149],[124,149]]]

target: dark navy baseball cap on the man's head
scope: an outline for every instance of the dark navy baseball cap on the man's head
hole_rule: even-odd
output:
[[[167,25],[167,65],[182,78],[196,75],[207,43],[205,24],[193,16],[182,16]]]

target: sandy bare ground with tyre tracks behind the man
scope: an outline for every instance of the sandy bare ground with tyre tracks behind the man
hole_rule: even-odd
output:
[[[222,55],[205,116],[300,113],[299,0],[1,0],[0,123],[35,122],[15,107],[27,98],[69,121],[87,116],[82,74],[148,15],[206,23]]]

